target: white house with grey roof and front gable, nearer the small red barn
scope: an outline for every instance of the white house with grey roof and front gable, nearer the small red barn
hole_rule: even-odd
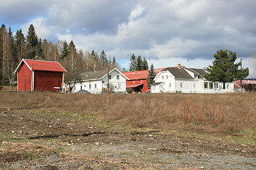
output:
[[[109,75],[109,77],[107,77]],[[101,94],[103,89],[107,90],[107,82],[110,83],[110,91],[113,93],[125,93],[126,81],[129,80],[117,68],[98,70],[95,72],[84,72],[80,74],[82,81],[75,84],[73,93],[79,90],[90,91],[91,94]]]

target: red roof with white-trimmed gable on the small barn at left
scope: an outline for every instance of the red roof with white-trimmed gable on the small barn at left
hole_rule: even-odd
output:
[[[32,67],[32,60],[23,59],[21,60],[18,67],[21,65],[22,62],[31,69]],[[17,67],[17,69],[18,69]],[[52,62],[52,61],[42,61],[42,60],[33,60],[33,70],[39,71],[50,71],[50,72],[67,72],[59,62]],[[16,72],[16,71],[15,71]]]

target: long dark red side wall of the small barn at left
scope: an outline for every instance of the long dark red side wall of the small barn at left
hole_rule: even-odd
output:
[[[35,91],[62,91],[63,73],[34,71]]]

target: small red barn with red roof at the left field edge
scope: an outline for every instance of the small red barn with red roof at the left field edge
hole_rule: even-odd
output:
[[[18,64],[18,91],[63,91],[64,73],[58,62],[26,60]]]

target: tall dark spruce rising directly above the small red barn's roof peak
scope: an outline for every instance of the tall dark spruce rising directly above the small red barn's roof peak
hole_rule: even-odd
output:
[[[36,35],[36,30],[31,24],[28,28],[28,34],[26,36],[26,45],[28,48],[28,58],[32,59],[33,57],[36,57],[36,52],[38,50],[38,37]]]

